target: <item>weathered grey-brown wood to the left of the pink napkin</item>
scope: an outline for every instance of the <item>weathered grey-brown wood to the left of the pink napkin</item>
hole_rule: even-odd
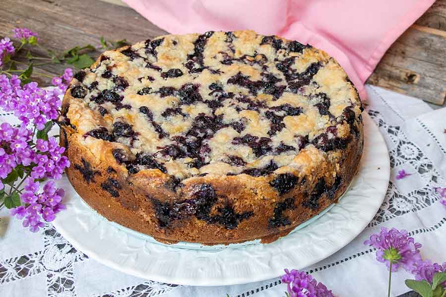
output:
[[[101,36],[135,43],[166,34],[129,7],[91,0],[1,0],[0,36],[11,36],[15,27],[27,27],[38,32],[40,43],[56,50],[86,44],[99,46]],[[33,55],[44,53],[38,48],[31,52]],[[16,58],[26,61],[23,54]],[[93,55],[99,55],[99,52]],[[39,84],[49,85],[51,79],[38,73],[55,76],[61,74],[65,67],[60,64],[35,67],[33,79]]]

